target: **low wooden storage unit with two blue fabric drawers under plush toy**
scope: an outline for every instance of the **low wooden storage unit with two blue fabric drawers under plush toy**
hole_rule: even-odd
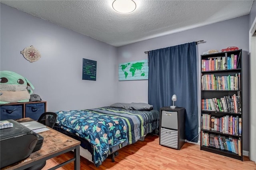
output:
[[[8,103],[0,105],[0,120],[21,119],[30,117],[38,120],[46,112],[46,101],[33,101],[26,103]]]

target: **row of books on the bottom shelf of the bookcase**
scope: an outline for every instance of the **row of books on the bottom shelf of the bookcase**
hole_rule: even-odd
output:
[[[202,145],[224,151],[233,152],[241,156],[241,139],[232,136],[222,136],[220,134],[212,134],[202,132]]]

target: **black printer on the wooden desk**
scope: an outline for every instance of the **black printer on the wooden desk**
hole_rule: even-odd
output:
[[[35,151],[38,140],[41,140],[40,146],[42,146],[42,136],[12,119],[7,121],[13,123],[13,127],[0,130],[0,168],[30,156]]]

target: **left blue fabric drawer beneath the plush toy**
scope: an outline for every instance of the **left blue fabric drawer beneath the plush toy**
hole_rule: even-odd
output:
[[[0,120],[6,119],[21,119],[23,108],[22,105],[7,105],[7,106],[0,106],[1,115]]]

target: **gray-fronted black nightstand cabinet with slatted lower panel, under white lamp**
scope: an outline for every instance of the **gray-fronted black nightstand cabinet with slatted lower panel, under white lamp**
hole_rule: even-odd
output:
[[[185,108],[160,108],[159,144],[180,150],[185,143]]]

